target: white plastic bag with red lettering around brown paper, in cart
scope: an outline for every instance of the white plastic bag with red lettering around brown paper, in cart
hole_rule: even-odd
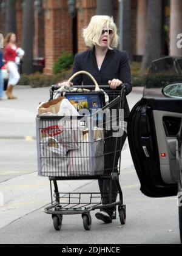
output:
[[[69,119],[70,116],[79,116],[79,114],[69,100],[59,97],[48,103],[40,103],[38,113],[39,116],[60,116],[59,120],[45,122],[46,126],[41,130],[41,137],[52,137],[67,151],[79,148],[80,136],[77,132],[79,120]]]

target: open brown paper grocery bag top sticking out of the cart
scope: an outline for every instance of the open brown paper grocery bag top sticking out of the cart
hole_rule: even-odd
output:
[[[51,112],[52,114],[58,114],[59,106],[63,99],[65,99],[65,97],[59,97],[55,100],[50,100],[50,102],[43,103],[38,108],[38,115],[41,116],[41,114],[44,114],[46,112]]]

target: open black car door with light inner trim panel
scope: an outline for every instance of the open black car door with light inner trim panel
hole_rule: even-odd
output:
[[[179,108],[179,103],[181,101],[176,99],[143,98],[130,113],[130,151],[140,179],[141,192],[147,196],[177,195],[176,138],[166,135],[163,117],[181,118],[182,108]],[[162,153],[166,156],[162,157]]]

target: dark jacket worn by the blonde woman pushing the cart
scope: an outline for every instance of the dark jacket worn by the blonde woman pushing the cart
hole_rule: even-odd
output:
[[[117,49],[107,50],[101,69],[98,69],[95,57],[95,49],[86,50],[75,55],[73,74],[77,71],[88,71],[93,75],[98,85],[108,85],[113,78],[120,79],[126,85],[126,95],[132,91],[129,57],[126,51]],[[93,85],[93,81],[87,75],[78,75],[72,80],[73,85]],[[126,95],[124,96],[124,119],[129,117],[129,106]]]

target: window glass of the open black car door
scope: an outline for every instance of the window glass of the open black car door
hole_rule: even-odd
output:
[[[146,78],[143,97],[165,97],[164,86],[182,82],[182,57],[164,57],[152,62]]]

